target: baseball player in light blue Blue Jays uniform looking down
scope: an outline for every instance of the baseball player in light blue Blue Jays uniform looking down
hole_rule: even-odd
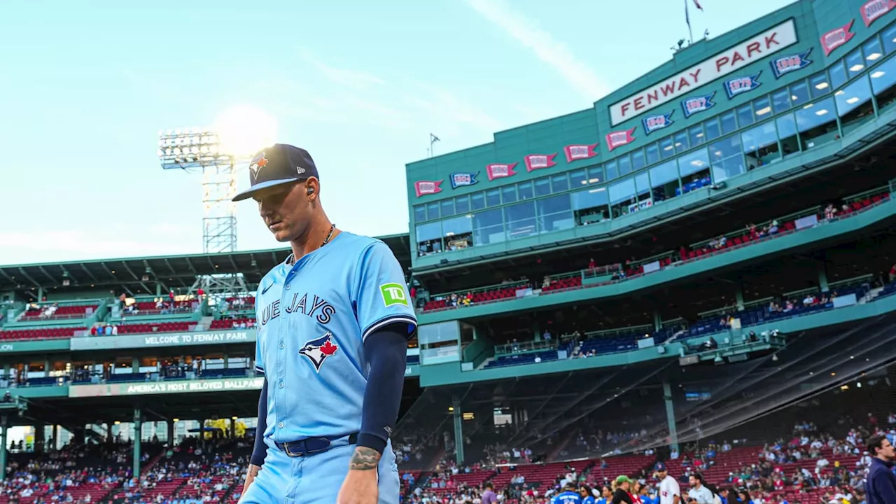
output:
[[[303,149],[276,144],[249,165],[254,198],[292,254],[255,294],[264,376],[245,504],[397,504],[389,436],[417,317],[401,266],[377,239],[340,231]]]

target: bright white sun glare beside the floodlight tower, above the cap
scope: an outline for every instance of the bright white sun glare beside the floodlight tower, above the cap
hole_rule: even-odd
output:
[[[220,150],[246,156],[271,145],[277,136],[277,121],[261,109],[238,105],[225,110],[216,120]]]

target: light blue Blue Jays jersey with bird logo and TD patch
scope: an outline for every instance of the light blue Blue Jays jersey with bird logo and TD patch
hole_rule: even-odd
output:
[[[255,295],[255,370],[268,381],[264,437],[291,442],[358,432],[377,328],[417,326],[398,260],[382,241],[340,232],[264,275]]]

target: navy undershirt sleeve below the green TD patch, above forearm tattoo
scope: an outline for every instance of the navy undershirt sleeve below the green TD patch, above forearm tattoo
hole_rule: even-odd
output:
[[[358,446],[383,453],[401,407],[408,359],[407,324],[390,324],[367,335],[364,352],[370,363]]]

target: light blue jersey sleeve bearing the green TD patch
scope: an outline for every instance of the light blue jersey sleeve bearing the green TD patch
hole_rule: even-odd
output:
[[[398,259],[382,241],[367,247],[358,263],[353,304],[362,341],[376,329],[394,323],[407,325],[410,337],[417,329],[417,315],[408,295]]]

